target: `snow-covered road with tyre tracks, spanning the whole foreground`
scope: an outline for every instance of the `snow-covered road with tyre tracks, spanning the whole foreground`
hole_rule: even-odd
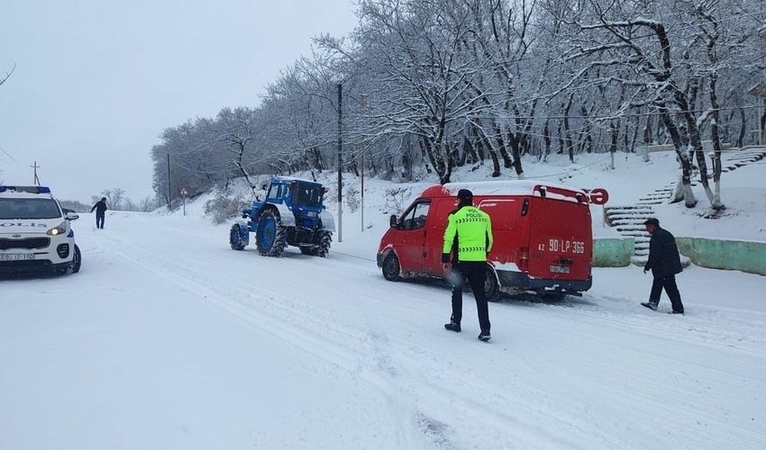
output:
[[[0,447],[766,447],[757,275],[692,267],[674,317],[599,269],[582,298],[491,304],[484,344],[470,293],[447,332],[449,290],[374,250],[260,257],[192,220],[78,224],[80,274],[0,282]]]

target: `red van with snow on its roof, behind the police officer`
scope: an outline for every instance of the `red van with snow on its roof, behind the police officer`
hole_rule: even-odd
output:
[[[561,300],[590,289],[593,231],[588,195],[526,180],[426,188],[401,216],[391,216],[391,228],[380,239],[378,267],[387,280],[444,278],[444,229],[461,189],[469,189],[474,205],[492,220],[494,245],[484,286],[490,301],[497,301],[501,293],[526,291]]]

